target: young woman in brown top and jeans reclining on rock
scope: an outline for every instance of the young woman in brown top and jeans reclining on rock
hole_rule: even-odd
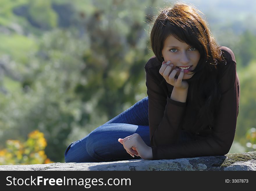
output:
[[[148,97],[71,143],[66,162],[229,152],[240,98],[236,61],[200,14],[182,3],[161,11],[150,34],[155,56],[145,65]]]

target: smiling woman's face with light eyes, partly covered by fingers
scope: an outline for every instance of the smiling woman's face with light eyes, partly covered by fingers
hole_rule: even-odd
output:
[[[163,43],[162,55],[164,61],[171,61],[171,64],[174,65],[172,70],[175,68],[179,69],[175,76],[176,78],[181,71],[179,67],[184,67],[184,76],[182,79],[190,79],[194,75],[190,70],[195,69],[200,59],[200,53],[197,49],[189,46],[185,42],[179,41],[171,35]],[[188,68],[189,66],[190,68]]]

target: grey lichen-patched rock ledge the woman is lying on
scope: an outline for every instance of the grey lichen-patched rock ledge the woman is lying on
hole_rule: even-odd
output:
[[[133,159],[99,163],[1,165],[0,170],[256,170],[256,151],[173,160]]]

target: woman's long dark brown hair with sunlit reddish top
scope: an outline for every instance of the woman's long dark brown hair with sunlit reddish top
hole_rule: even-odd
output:
[[[198,112],[197,122],[189,129],[191,132],[199,131],[209,125],[214,126],[214,118],[221,98],[217,66],[225,62],[216,40],[201,15],[203,16],[202,12],[191,4],[176,3],[172,8],[167,7],[160,11],[150,34],[152,51],[160,63],[164,61],[162,55],[164,41],[170,35],[200,52],[198,65],[191,71],[194,75],[186,80],[189,83],[188,95],[191,96],[193,103],[196,103],[195,110]]]

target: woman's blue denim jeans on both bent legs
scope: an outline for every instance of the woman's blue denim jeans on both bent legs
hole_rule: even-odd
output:
[[[107,162],[121,161],[134,158],[128,154],[119,138],[125,138],[138,133],[143,141],[150,145],[148,123],[148,97],[99,126],[83,139],[72,142],[65,151],[66,162]],[[180,142],[192,140],[190,133],[182,131]]]

